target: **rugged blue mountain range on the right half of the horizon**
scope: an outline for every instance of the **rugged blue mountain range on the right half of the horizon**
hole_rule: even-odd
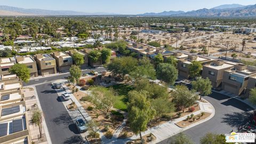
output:
[[[220,5],[213,7],[212,9],[199,9],[195,11],[170,11],[161,13],[144,13],[140,16],[184,16],[184,17],[255,17],[256,16],[256,4],[255,5]]]

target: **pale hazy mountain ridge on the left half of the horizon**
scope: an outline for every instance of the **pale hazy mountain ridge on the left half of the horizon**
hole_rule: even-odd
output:
[[[86,12],[77,12],[77,11],[54,11],[54,10],[42,10],[42,9],[23,9],[20,7],[13,7],[13,6],[6,6],[0,5],[0,10],[2,11],[9,11],[10,14],[13,15],[14,13],[19,13],[19,15],[114,15],[115,13],[86,13]],[[0,13],[0,15],[6,15]]]

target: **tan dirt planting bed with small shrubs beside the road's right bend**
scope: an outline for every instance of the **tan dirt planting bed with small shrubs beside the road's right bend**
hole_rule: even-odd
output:
[[[201,116],[201,114],[195,115],[195,117],[196,117],[195,121],[193,121],[193,119],[191,118],[191,119],[188,119],[188,120],[185,119],[185,120],[180,121],[180,122],[175,123],[175,124],[178,125],[179,127],[184,128],[184,127],[187,127],[187,126],[189,126],[191,124],[194,124],[196,122],[202,121],[203,119],[209,117],[210,115],[211,115],[211,113],[204,112],[203,116]],[[198,116],[201,116],[201,117],[199,118]]]

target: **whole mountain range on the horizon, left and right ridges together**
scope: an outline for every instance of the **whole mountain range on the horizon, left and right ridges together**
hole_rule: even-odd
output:
[[[19,15],[120,15],[116,13],[86,13],[77,11],[54,11],[42,9],[23,9],[20,7],[0,5],[0,15],[2,16],[19,16]],[[213,7],[212,9],[199,9],[194,11],[164,11],[160,13],[143,13],[137,16],[171,16],[171,17],[255,17],[255,5],[239,5],[239,4],[226,4]]]

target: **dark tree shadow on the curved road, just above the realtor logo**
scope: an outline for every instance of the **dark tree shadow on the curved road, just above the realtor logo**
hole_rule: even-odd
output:
[[[244,125],[249,120],[251,120],[251,118],[252,118],[252,113],[234,112],[234,113],[224,114],[224,117],[222,117],[221,122],[226,123],[231,127],[239,127]]]

